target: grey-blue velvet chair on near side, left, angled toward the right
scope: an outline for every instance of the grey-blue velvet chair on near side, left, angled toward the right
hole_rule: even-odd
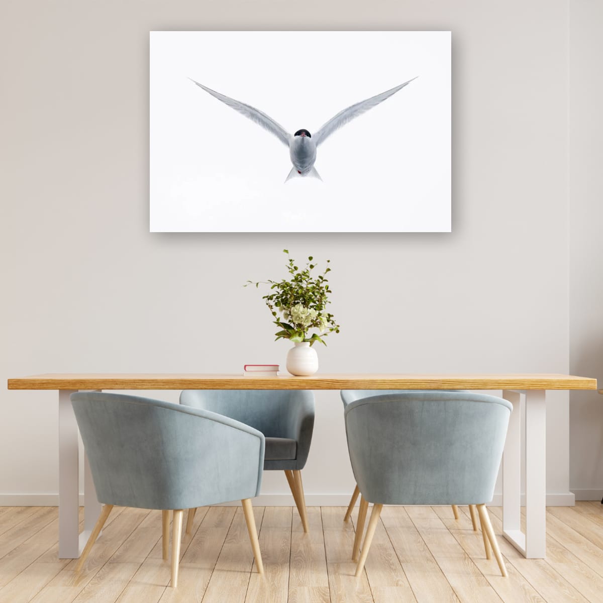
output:
[[[86,561],[114,505],[163,511],[163,558],[172,522],[171,586],[178,584],[183,510],[241,500],[257,570],[264,573],[251,498],[264,467],[264,435],[239,421],[171,402],[100,392],[71,401],[104,507],[80,561]]]

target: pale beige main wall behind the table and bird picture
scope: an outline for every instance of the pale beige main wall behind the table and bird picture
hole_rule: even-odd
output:
[[[319,350],[322,371],[569,370],[566,2],[2,10],[0,383],[284,364],[260,292],[241,286],[285,274],[283,247],[332,260],[342,331]],[[453,232],[148,233],[148,31],[204,28],[452,30]],[[547,474],[549,500],[566,502],[567,400],[550,396]],[[0,403],[0,502],[40,502],[57,491],[57,395],[2,388]],[[317,394],[304,479],[309,504],[352,490],[336,392]],[[267,476],[265,493],[286,491]]]

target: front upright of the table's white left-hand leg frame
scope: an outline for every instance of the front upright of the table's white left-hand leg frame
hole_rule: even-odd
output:
[[[74,390],[58,391],[58,557],[80,557],[78,511],[78,429],[69,396]]]

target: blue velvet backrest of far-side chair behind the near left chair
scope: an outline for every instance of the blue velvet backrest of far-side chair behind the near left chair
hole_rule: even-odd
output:
[[[314,419],[309,390],[184,390],[180,403],[234,418],[267,438],[293,438],[300,417]]]

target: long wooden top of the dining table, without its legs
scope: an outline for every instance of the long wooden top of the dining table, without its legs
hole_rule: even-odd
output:
[[[8,379],[9,390],[596,390],[565,374],[354,374],[247,377],[242,374],[48,373]]]

